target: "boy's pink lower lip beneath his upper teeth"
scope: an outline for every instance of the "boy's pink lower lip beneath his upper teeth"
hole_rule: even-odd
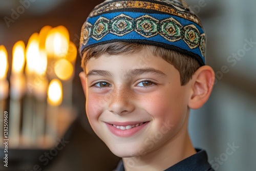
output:
[[[137,127],[133,127],[132,129],[130,130],[120,130],[120,129],[117,129],[115,126],[113,126],[112,124],[109,124],[109,123],[106,123],[106,126],[108,126],[110,132],[118,137],[130,137],[136,133],[138,133],[140,130],[142,130],[146,125],[147,125],[148,122],[140,125],[140,126],[137,126]]]

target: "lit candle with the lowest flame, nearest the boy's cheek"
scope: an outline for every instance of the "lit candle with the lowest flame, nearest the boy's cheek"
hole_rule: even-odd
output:
[[[62,84],[58,79],[53,79],[48,88],[48,111],[47,111],[47,137],[51,138],[52,142],[58,137],[58,108],[62,102]],[[51,141],[50,141],[51,142]]]

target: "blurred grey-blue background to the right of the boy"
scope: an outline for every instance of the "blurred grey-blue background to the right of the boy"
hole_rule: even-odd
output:
[[[190,115],[190,135],[216,170],[255,170],[256,1],[187,1],[207,33],[207,64],[216,82]]]

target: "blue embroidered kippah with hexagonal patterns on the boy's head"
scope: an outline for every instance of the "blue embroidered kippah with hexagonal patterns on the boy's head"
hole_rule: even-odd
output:
[[[90,47],[124,41],[154,45],[195,57],[205,65],[201,20],[183,0],[106,0],[81,29],[80,55]]]

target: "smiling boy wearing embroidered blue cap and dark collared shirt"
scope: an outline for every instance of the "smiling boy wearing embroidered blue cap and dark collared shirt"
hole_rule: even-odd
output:
[[[213,170],[187,124],[214,84],[200,19],[182,0],[108,0],[81,32],[80,79],[116,170]]]

